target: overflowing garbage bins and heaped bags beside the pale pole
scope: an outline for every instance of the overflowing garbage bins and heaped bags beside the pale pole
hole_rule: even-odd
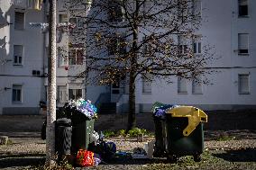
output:
[[[112,159],[114,142],[94,130],[97,109],[89,100],[70,100],[57,113],[56,146],[59,157],[71,156],[76,166],[97,166]],[[71,122],[71,123],[68,123]]]

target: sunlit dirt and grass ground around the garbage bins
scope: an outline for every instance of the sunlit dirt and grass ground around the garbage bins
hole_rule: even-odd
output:
[[[169,163],[166,157],[133,159],[127,156],[114,158],[96,167],[76,169],[256,169],[256,133],[251,134],[249,131],[242,133],[246,133],[249,139],[206,140],[206,149],[199,163],[194,162],[193,157],[189,156],[179,157],[176,164]],[[0,146],[1,169],[37,169],[43,165],[45,140],[39,138],[11,138],[11,140],[13,144]],[[147,142],[137,142],[135,139],[107,140],[114,141],[117,150],[127,153],[132,153],[133,148],[143,147]]]

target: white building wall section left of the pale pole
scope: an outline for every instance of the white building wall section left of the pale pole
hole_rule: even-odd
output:
[[[0,114],[36,114],[39,112],[39,102],[44,97],[44,87],[42,78],[32,76],[32,70],[39,70],[41,75],[43,73],[43,36],[40,28],[32,28],[29,22],[43,22],[43,12],[27,10],[25,3],[15,3],[0,1],[1,20],[4,18],[5,22],[11,23],[0,28],[0,39],[5,41],[5,49],[2,46],[0,57]],[[22,31],[14,29],[15,11],[25,13]],[[22,66],[14,66],[14,45],[24,47]],[[22,85],[22,103],[12,102],[12,88],[15,84]]]

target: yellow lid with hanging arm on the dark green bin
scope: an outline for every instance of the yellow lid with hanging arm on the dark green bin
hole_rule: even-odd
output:
[[[171,114],[171,117],[187,117],[188,124],[183,130],[184,136],[189,136],[200,122],[207,122],[207,115],[200,109],[192,106],[180,106],[173,109],[169,109],[167,113]]]

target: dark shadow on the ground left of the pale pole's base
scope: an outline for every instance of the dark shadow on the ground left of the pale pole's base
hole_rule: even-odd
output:
[[[45,162],[45,154],[23,154],[0,156],[0,168],[40,166]]]

